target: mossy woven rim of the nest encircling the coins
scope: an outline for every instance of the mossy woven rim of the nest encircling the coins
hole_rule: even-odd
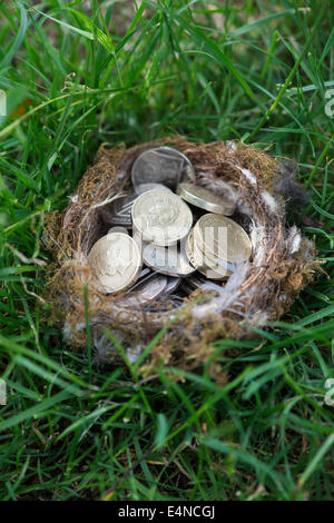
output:
[[[229,276],[220,295],[208,299],[207,293],[195,290],[177,307],[167,300],[166,310],[151,312],[122,307],[117,303],[121,295],[106,297],[96,290],[89,283],[91,269],[87,255],[97,235],[101,235],[100,209],[115,195],[128,190],[131,166],[138,155],[160,145],[175,147],[189,158],[198,185],[218,194],[228,190],[239,215],[249,220],[253,257]],[[318,262],[313,243],[295,225],[285,224],[285,200],[276,189],[277,166],[278,159],[267,150],[240,141],[198,144],[173,136],[129,149],[124,145],[108,148],[102,144],[94,165],[70,197],[69,206],[62,213],[51,213],[47,220],[47,248],[56,258],[48,270],[47,289],[56,307],[52,309],[58,308],[58,319],[70,330],[67,341],[82,345],[82,285],[86,284],[91,327],[96,332],[102,332],[104,327],[121,333],[126,327],[134,330],[128,324],[130,319],[136,333],[129,338],[137,346],[168,325],[175,346],[183,338],[183,326],[188,342],[198,345],[199,341],[203,345],[217,336],[234,339],[253,336],[254,327],[279,319],[313,279]],[[191,351],[186,351],[187,356],[190,354]],[[165,359],[170,362],[169,356]]]

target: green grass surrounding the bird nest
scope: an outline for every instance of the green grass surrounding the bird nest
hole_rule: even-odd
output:
[[[0,88],[14,111],[0,117],[0,499],[331,500],[333,4],[90,3],[0,3]],[[263,343],[238,343],[235,359],[234,342],[216,344],[220,386],[205,369],[174,383],[159,368],[143,382],[91,366],[41,322],[46,213],[67,205],[102,141],[170,132],[297,158],[311,200],[288,220],[327,260]]]

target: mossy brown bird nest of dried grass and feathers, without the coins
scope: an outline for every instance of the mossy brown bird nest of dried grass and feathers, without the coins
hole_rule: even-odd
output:
[[[130,188],[135,159],[157,145],[184,152],[196,184],[235,201],[234,218],[247,230],[253,255],[218,284],[218,292],[197,288],[127,306],[124,294],[105,295],[91,284],[87,256],[110,227],[106,206]],[[160,365],[189,371],[200,364],[219,375],[214,342],[254,337],[257,328],[279,319],[320,266],[314,244],[285,223],[287,199],[304,197],[293,178],[286,162],[239,141],[194,144],[176,136],[130,149],[101,145],[68,207],[46,218],[43,243],[53,255],[46,286],[51,322],[62,325],[71,346],[86,346],[89,335],[99,361],[119,362],[120,344],[134,362],[150,343],[140,358],[146,375]],[[236,345],[229,354],[239,352]]]

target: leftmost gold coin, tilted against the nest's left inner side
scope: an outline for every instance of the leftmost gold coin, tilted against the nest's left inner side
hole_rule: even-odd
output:
[[[95,284],[107,294],[131,287],[143,265],[138,245],[122,233],[111,233],[98,239],[90,249],[88,263],[96,274]]]

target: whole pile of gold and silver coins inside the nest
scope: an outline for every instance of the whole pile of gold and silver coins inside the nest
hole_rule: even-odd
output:
[[[176,289],[218,290],[237,264],[249,259],[246,231],[230,218],[235,203],[195,185],[189,159],[155,147],[135,160],[134,190],[105,206],[109,230],[88,262],[104,294],[126,292],[124,306],[166,299]],[[131,235],[130,235],[131,231]]]

